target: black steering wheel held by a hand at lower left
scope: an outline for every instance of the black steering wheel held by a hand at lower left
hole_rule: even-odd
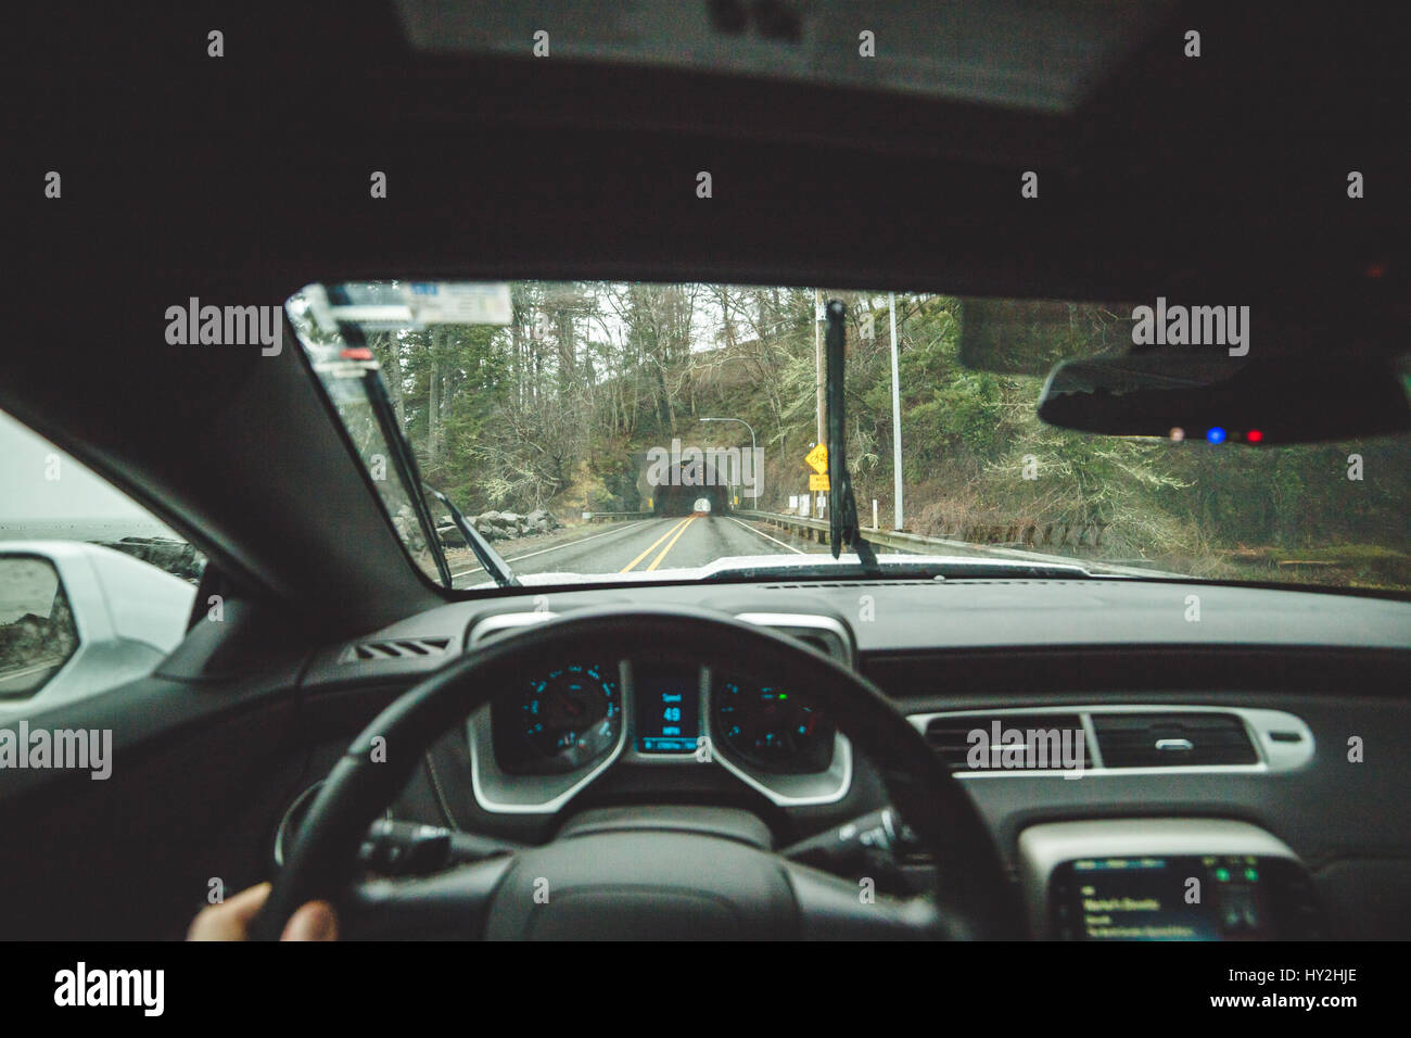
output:
[[[547,845],[425,878],[360,880],[368,826],[422,754],[488,703],[526,664],[689,647],[731,668],[787,675],[879,770],[893,806],[935,861],[920,897],[859,885],[728,833],[643,825],[564,833]],[[921,734],[865,678],[759,627],[690,609],[591,609],[497,640],[404,693],[349,746],[325,781],[251,936],[277,939],[310,900],[343,933],[439,939],[1013,938],[1017,897],[989,829]]]

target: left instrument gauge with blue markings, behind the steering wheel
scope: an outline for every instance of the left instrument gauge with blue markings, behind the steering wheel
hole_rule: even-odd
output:
[[[525,679],[498,723],[497,757],[516,771],[573,771],[608,753],[622,732],[617,669],[569,664]]]

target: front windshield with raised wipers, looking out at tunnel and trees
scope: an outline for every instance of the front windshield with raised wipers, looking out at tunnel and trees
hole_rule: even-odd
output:
[[[478,587],[505,582],[488,545],[525,585],[856,565],[827,542],[828,299],[858,524],[889,572],[1077,562],[1411,589],[1411,436],[1254,446],[1257,431],[1096,436],[1037,418],[1055,362],[1130,350],[1132,304],[381,281],[310,285],[288,312],[411,559]],[[1002,363],[969,366],[976,345]]]

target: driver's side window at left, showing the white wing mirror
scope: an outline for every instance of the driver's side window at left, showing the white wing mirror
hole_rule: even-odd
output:
[[[205,558],[0,412],[0,724],[151,674]]]

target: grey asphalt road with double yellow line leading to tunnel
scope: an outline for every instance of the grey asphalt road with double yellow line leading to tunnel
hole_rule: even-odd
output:
[[[827,552],[827,545],[765,531],[729,515],[686,515],[584,527],[584,535],[547,548],[516,552],[495,545],[515,573],[641,573],[703,566],[727,555]],[[457,576],[460,576],[457,573]],[[484,580],[476,568],[457,585]]]

